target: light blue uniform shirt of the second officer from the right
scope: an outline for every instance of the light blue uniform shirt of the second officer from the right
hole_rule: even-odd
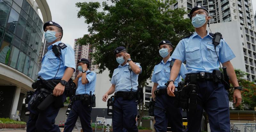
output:
[[[171,64],[172,58],[170,57],[167,62],[164,64],[164,60],[162,60],[159,64],[157,64],[154,67],[154,72],[152,75],[152,82],[155,82],[158,84],[157,89],[159,88],[166,88],[164,85],[169,79],[170,79],[170,64]],[[175,87],[178,87],[178,83],[181,81],[181,77],[184,79],[186,77],[185,73],[187,73],[188,70],[182,63],[180,66],[180,72],[176,80],[174,81]]]

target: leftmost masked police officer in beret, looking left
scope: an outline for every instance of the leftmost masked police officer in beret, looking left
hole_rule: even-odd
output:
[[[48,52],[44,55],[42,59],[41,70],[38,72],[38,76],[41,76],[45,80],[61,80],[53,90],[54,98],[61,98],[62,103],[66,99],[65,85],[70,80],[72,74],[75,71],[75,53],[73,48],[68,45],[61,43],[61,38],[63,36],[62,27],[52,21],[46,22],[43,26],[45,31],[44,38],[50,44],[48,46]],[[52,47],[57,46],[60,50],[60,56],[57,57],[52,51]],[[40,83],[39,80],[36,81],[37,86]],[[50,90],[49,87],[42,87],[44,89]],[[40,93],[40,88],[37,87],[35,93]],[[30,99],[30,101],[32,98]],[[60,108],[55,108],[54,103],[52,103],[44,111],[39,111],[37,108],[31,108],[30,103],[28,104],[28,110],[30,111],[27,132],[59,132],[60,128],[58,125],[54,125],[55,118],[60,110]]]

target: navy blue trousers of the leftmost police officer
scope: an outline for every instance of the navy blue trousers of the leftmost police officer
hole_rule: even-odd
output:
[[[39,91],[36,90],[34,94],[38,94]],[[64,103],[66,99],[66,92],[62,95],[62,101]],[[32,109],[28,103],[28,110],[30,113],[34,114],[35,117],[31,118],[29,116],[27,122],[27,132],[60,132],[58,125],[55,125],[55,118],[59,113],[60,108],[54,108],[54,105],[51,104],[46,110],[39,111],[38,109]]]

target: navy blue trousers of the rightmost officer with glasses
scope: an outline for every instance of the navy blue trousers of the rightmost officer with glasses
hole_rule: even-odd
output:
[[[197,82],[197,109],[187,112],[188,132],[200,132],[203,109],[209,117],[211,132],[230,132],[228,92],[223,84]]]

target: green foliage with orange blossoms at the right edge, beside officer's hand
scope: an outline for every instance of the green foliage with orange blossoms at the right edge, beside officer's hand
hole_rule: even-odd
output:
[[[239,83],[239,86],[243,87],[242,94],[242,103],[239,107],[236,107],[235,110],[254,110],[256,107],[256,85],[254,82],[250,82],[243,77],[246,75],[245,72],[240,69],[235,69],[236,77]],[[231,86],[233,87],[233,86]],[[232,90],[229,94],[229,101],[233,102],[233,93]]]

